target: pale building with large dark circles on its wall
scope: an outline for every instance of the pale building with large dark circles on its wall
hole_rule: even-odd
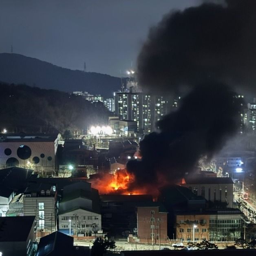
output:
[[[22,167],[38,172],[55,172],[60,134],[1,134],[0,169]]]

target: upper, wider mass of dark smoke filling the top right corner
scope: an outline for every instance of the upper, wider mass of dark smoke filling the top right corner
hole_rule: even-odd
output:
[[[137,60],[145,90],[172,92],[207,79],[255,86],[256,1],[226,4],[171,12],[150,29]]]

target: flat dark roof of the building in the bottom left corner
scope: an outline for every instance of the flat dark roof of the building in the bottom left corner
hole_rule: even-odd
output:
[[[26,241],[35,216],[0,217],[0,242]]]

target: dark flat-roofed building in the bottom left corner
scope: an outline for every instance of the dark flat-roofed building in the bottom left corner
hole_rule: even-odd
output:
[[[1,255],[34,255],[35,233],[35,216],[0,217]]]

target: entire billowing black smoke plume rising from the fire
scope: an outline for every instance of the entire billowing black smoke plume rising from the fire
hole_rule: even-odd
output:
[[[127,163],[139,184],[182,177],[238,132],[243,102],[227,84],[248,90],[256,82],[255,11],[251,0],[202,4],[150,30],[138,57],[140,84],[156,93],[184,86],[188,95],[141,141],[142,159]]]

